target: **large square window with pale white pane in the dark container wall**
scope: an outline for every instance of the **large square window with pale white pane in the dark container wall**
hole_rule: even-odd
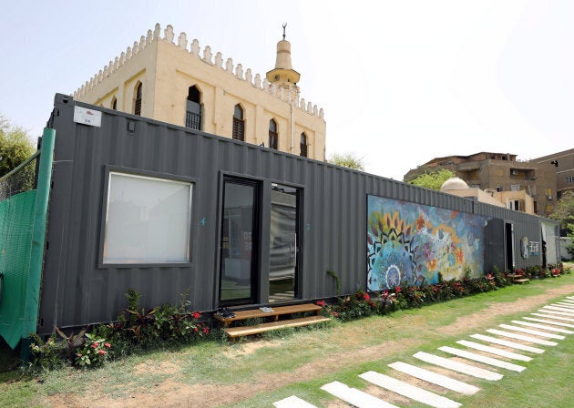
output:
[[[109,172],[104,264],[190,261],[190,182]]]

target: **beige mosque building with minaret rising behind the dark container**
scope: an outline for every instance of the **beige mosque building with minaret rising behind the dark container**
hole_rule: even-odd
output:
[[[264,77],[200,50],[185,33],[159,24],[109,61],[74,98],[174,125],[235,138],[318,160],[325,159],[323,108],[299,95],[291,44],[277,43],[275,67]]]

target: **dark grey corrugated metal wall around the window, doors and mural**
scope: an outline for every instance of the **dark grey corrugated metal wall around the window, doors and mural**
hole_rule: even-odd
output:
[[[259,180],[262,194],[272,182],[301,189],[302,300],[336,294],[327,270],[340,275],[345,293],[366,287],[367,195],[505,219],[514,224],[517,237],[540,234],[538,218],[516,211],[105,108],[93,107],[102,112],[101,128],[76,124],[76,104],[90,107],[56,95],[51,119],[56,153],[39,332],[51,332],[54,325],[114,320],[126,306],[124,293],[130,288],[143,294],[147,307],[179,301],[179,293],[189,289],[196,310],[216,309],[224,175]],[[194,181],[190,264],[98,266],[110,168]],[[270,213],[270,203],[261,201],[261,234],[269,237],[263,219]],[[261,240],[258,250],[264,280],[269,273],[269,243]],[[263,281],[261,293],[265,288]]]

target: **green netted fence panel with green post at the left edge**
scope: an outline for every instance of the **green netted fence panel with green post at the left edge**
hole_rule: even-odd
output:
[[[36,332],[55,136],[45,128],[41,150],[0,178],[0,336],[13,349]]]

